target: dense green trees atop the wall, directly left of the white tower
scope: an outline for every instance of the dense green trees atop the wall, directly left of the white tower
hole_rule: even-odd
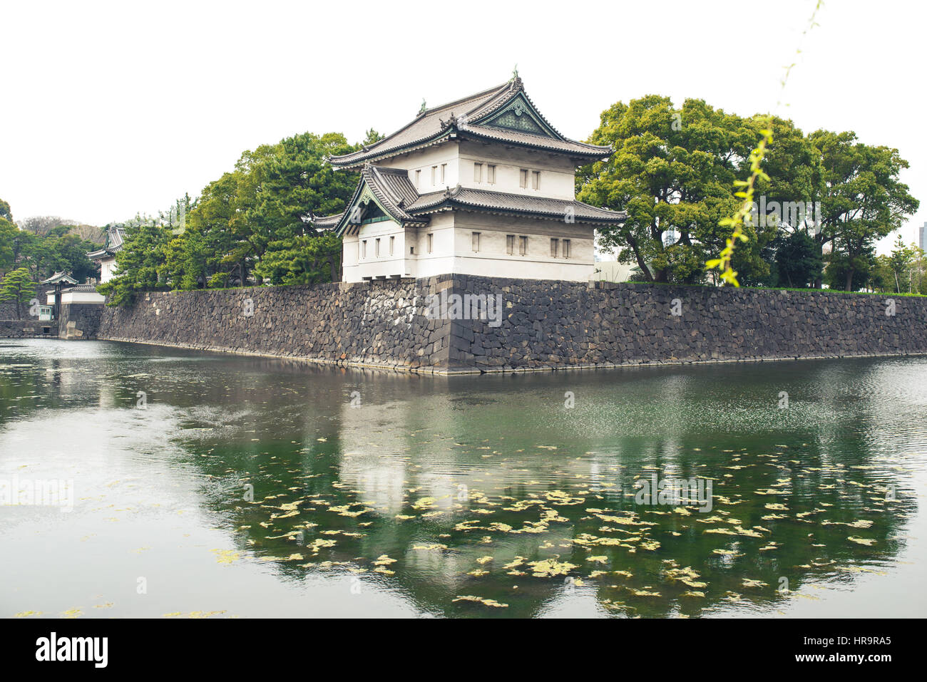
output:
[[[368,131],[364,144],[378,138]],[[340,240],[309,221],[344,210],[357,175],[325,159],[357,148],[340,133],[301,133],[244,152],[234,170],[186,200],[179,229],[163,216],[130,221],[116,276],[100,291],[120,305],[152,289],[339,280]]]

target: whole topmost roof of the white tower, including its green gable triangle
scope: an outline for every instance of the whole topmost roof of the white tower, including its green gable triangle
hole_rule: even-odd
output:
[[[597,159],[612,153],[610,146],[587,145],[558,133],[525,93],[520,78],[449,104],[425,109],[415,120],[374,145],[339,157],[332,166],[358,169],[366,161],[395,157],[425,146],[438,145],[460,134],[514,145],[563,153],[579,159]]]

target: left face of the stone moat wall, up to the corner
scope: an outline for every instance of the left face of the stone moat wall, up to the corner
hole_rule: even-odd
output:
[[[143,294],[108,307],[99,338],[433,371],[451,322],[416,314],[436,279]]]

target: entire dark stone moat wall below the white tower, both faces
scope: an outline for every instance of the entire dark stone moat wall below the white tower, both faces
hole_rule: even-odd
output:
[[[501,297],[498,325],[436,319],[442,292]],[[444,275],[147,294],[98,337],[434,373],[904,355],[927,353],[927,298]]]

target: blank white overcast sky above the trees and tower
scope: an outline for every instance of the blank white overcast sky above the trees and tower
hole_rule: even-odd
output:
[[[291,135],[391,133],[508,80],[561,133],[656,93],[775,107],[814,0],[491,3],[21,2],[0,9],[0,197],[19,220],[92,224],[196,196],[241,152]],[[806,133],[900,150],[927,221],[922,3],[830,0],[785,93]],[[764,54],[751,36],[765,35]],[[753,79],[743,87],[744,69]],[[882,250],[882,249],[881,249]]]

